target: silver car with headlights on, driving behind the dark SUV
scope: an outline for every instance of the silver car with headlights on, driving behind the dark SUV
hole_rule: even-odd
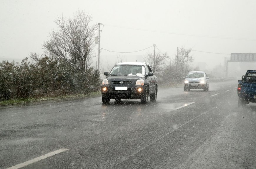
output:
[[[190,89],[203,89],[209,90],[209,77],[204,71],[190,71],[187,76],[183,77],[184,91],[190,91]]]

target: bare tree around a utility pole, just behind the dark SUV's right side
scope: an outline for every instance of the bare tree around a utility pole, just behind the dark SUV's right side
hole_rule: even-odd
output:
[[[162,66],[165,65],[166,63],[166,59],[168,59],[169,56],[167,55],[167,53],[161,53],[158,52],[157,54],[152,54],[152,53],[148,53],[144,59],[146,60],[146,62],[148,62],[153,69],[153,72],[157,72],[160,71]]]

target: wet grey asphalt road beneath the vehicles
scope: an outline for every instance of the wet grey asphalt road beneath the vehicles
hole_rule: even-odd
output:
[[[238,108],[236,87],[159,88],[146,105],[97,97],[0,107],[0,169],[30,160],[23,168],[256,168],[256,104]]]

